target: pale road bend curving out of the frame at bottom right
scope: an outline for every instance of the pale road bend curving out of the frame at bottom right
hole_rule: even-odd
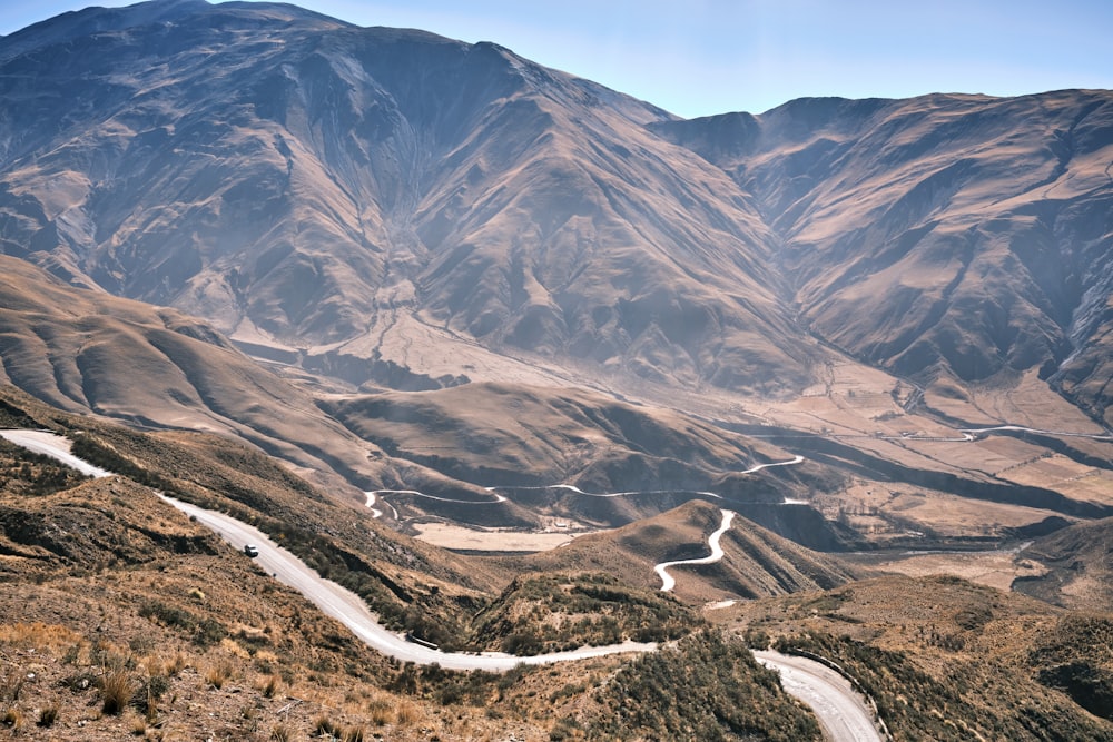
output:
[[[779,652],[755,651],[754,656],[780,672],[781,686],[811,708],[833,742],[883,742],[865,700],[830,667]]]

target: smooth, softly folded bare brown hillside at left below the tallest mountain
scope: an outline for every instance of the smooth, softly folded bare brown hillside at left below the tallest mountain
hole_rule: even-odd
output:
[[[306,471],[366,474],[368,456],[382,453],[205,323],[73,289],[7,256],[0,360],[0,383],[67,412],[233,435]],[[335,477],[327,484],[344,486]]]

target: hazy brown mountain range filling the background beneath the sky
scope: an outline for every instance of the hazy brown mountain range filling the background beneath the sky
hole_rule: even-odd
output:
[[[0,63],[4,251],[256,355],[762,395],[841,356],[1037,368],[1104,415],[1105,91],[688,121],[491,43],[201,0],[67,14]]]

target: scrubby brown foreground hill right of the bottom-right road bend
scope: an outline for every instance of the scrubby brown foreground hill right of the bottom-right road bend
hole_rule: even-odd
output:
[[[834,662],[896,740],[1113,739],[1113,621],[948,576],[740,603],[719,620]]]

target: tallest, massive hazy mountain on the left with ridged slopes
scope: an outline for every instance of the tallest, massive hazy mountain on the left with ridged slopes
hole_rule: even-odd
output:
[[[0,44],[7,253],[356,383],[444,375],[415,335],[770,392],[819,353],[757,211],[644,129],[663,111],[290,6],[82,18]]]

